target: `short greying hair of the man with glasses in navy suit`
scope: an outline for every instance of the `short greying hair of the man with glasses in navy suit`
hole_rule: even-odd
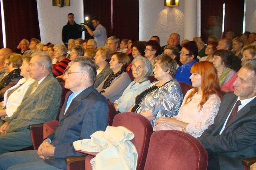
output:
[[[73,60],[74,63],[78,62],[81,71],[85,71],[90,78],[90,83],[94,82],[97,75],[96,64],[89,57],[77,57]]]

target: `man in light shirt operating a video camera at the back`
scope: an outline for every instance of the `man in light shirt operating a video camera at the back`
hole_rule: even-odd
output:
[[[94,37],[98,47],[104,46],[107,39],[106,28],[100,24],[100,20],[96,16],[92,18],[92,26],[95,28],[94,31],[87,25],[84,25],[84,28],[86,28],[90,36]]]

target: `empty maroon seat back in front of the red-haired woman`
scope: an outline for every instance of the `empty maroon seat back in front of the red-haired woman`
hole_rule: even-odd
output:
[[[144,170],[206,170],[208,155],[192,135],[178,130],[152,134]]]

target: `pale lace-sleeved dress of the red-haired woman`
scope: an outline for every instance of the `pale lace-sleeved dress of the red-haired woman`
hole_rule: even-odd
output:
[[[194,95],[194,99],[184,105],[184,101],[188,97],[188,94],[191,93],[191,91],[192,89],[190,89],[186,93],[180,107],[180,111],[178,115],[175,116],[175,118],[179,121],[188,123],[186,127],[187,133],[197,138],[201,136],[204,130],[208,128],[208,126],[213,124],[214,118],[217,115],[220,107],[220,98],[218,97],[218,95],[210,95],[206,103],[204,103],[202,110],[199,111],[198,104],[201,100],[201,96],[198,94]],[[181,127],[177,127],[174,125],[168,125],[166,129],[167,128],[182,130]]]

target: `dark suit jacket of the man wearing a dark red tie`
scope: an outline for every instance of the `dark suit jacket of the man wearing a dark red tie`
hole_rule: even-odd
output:
[[[256,156],[256,98],[240,109],[220,134],[236,100],[233,92],[224,95],[214,124],[198,137],[209,156],[217,154],[223,170],[242,170],[242,159]]]

